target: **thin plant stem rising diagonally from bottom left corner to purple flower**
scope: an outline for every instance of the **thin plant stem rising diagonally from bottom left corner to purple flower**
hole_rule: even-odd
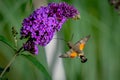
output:
[[[13,58],[10,60],[10,62],[7,64],[7,66],[4,68],[4,70],[2,71],[2,73],[0,74],[0,79],[2,78],[2,76],[4,75],[4,73],[6,72],[6,70],[11,66],[11,64],[14,62],[15,58],[19,55],[20,51],[23,49],[23,47],[21,47],[13,56]]]

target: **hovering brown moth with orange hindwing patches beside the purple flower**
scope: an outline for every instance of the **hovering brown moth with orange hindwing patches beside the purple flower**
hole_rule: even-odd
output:
[[[67,51],[65,54],[62,54],[59,56],[60,58],[75,58],[79,57],[81,59],[82,63],[85,63],[87,61],[87,58],[84,55],[83,49],[85,47],[86,42],[89,40],[90,35],[82,38],[75,44],[68,42],[68,47],[70,48],[69,51]]]

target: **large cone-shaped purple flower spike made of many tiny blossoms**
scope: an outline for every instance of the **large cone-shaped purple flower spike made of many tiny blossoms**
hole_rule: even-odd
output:
[[[30,39],[24,44],[24,50],[37,54],[37,45],[46,46],[66,20],[78,14],[77,9],[65,2],[50,3],[35,10],[22,23],[21,39]]]

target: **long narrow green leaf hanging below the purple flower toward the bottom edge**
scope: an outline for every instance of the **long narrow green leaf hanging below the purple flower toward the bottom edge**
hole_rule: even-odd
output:
[[[32,55],[22,54],[25,58],[27,58],[29,61],[31,61],[40,71],[44,73],[44,75],[51,80],[51,76],[45,69],[45,67]]]

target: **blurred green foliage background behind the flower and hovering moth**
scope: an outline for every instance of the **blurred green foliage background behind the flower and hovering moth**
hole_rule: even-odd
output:
[[[38,0],[42,5],[61,0]],[[62,0],[74,5],[81,15],[80,20],[68,20],[57,33],[58,38],[63,37],[69,41],[74,34],[72,42],[91,35],[84,52],[88,61],[81,63],[79,59],[63,59],[66,80],[120,80],[120,14],[109,4],[108,0]],[[33,4],[34,2],[34,4]],[[22,20],[28,17],[35,8],[37,0],[0,0],[0,35],[5,36],[13,45],[11,27],[18,31]],[[19,47],[22,45],[19,41]],[[68,47],[63,41],[58,41],[53,57],[53,66],[58,52],[66,52]],[[57,51],[61,48],[62,51]],[[45,50],[39,47],[37,59],[51,73],[48,67]],[[0,67],[5,67],[14,52],[4,43],[0,42]],[[58,72],[59,73],[59,72]],[[19,56],[6,74],[8,80],[47,80],[46,77],[31,64],[30,61]]]

